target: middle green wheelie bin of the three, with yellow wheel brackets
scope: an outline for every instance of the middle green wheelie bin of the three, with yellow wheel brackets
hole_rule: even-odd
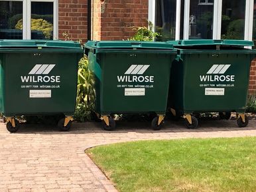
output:
[[[166,42],[103,41],[86,43],[96,82],[96,112],[103,129],[115,128],[119,113],[156,113],[160,129],[166,112],[171,61],[176,51]]]

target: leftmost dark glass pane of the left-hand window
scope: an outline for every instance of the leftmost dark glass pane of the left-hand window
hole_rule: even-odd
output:
[[[21,1],[0,1],[0,39],[22,39],[22,18]]]

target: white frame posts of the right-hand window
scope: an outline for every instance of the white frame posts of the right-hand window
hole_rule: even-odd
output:
[[[200,2],[200,1],[198,1]],[[206,0],[208,3],[208,0]],[[204,5],[206,5],[204,3]],[[175,40],[180,40],[180,9],[181,0],[176,0],[176,33]],[[155,0],[149,0],[149,20],[155,25]],[[211,3],[212,5],[212,3]],[[254,0],[245,1],[245,32],[244,40],[251,41],[253,39],[253,6]],[[189,37],[189,16],[190,16],[190,0],[184,0],[184,33],[183,39],[188,40]],[[214,17],[213,17],[213,34],[214,40],[220,40],[222,36],[222,0],[214,0]]]

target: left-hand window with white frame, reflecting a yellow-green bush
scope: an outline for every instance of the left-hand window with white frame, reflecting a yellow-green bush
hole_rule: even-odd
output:
[[[0,39],[58,38],[57,0],[0,0]]]

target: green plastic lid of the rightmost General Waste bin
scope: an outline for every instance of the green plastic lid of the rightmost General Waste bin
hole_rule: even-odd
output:
[[[178,46],[254,46],[252,41],[245,40],[178,40],[168,41],[168,44]]]

